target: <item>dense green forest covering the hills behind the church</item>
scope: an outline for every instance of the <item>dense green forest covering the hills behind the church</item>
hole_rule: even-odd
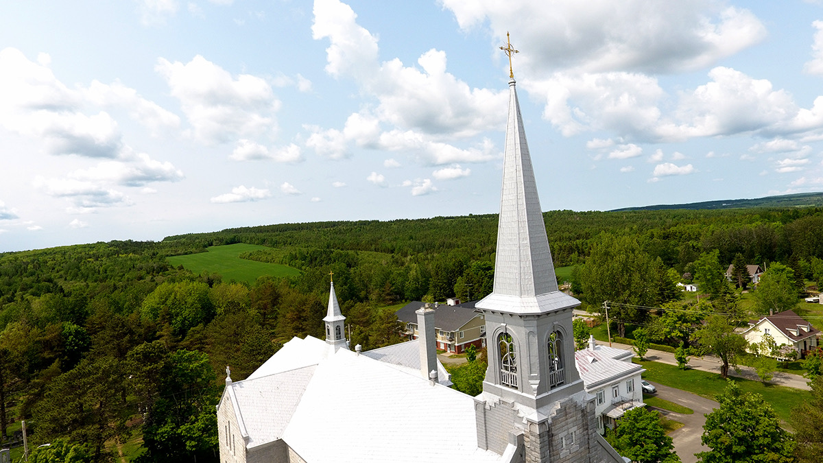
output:
[[[709,295],[706,313],[767,310],[741,306],[743,288],[724,276],[733,262],[779,270],[795,302],[823,283],[823,208],[544,219],[556,267],[574,266],[584,307],[613,303],[621,335],[634,324],[660,343],[692,343],[699,324],[671,310],[686,304],[681,282]],[[495,214],[294,223],[2,253],[0,435],[13,441],[25,419],[30,445],[52,444],[40,461],[216,461],[226,365],[239,381],[292,337],[322,339],[330,273],[351,344],[393,344],[400,330],[387,306],[491,292],[496,227]],[[300,276],[238,283],[166,260],[235,243],[266,246],[241,257]]]

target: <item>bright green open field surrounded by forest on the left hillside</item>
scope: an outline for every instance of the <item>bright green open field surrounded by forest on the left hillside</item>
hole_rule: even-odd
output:
[[[191,270],[194,274],[201,274],[203,270],[209,273],[221,274],[223,281],[235,280],[253,284],[263,275],[272,277],[291,277],[300,275],[300,270],[292,269],[287,265],[267,264],[255,260],[240,259],[239,255],[252,250],[268,249],[266,246],[246,245],[238,243],[235,245],[212,246],[207,248],[207,252],[189,255],[175,255],[167,260],[169,264],[183,265],[184,269]]]

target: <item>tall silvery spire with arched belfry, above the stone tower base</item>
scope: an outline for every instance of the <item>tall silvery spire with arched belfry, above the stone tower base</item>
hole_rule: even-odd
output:
[[[513,50],[504,49],[509,57]],[[571,324],[580,302],[557,288],[514,78],[504,149],[495,285],[476,304],[486,315],[489,344],[483,391],[541,409],[583,390]]]

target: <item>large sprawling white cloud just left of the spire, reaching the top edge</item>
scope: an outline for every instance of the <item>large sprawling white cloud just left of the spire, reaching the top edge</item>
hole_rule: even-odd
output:
[[[485,161],[472,148],[454,147],[467,138],[504,124],[508,91],[472,88],[446,72],[446,55],[430,49],[410,67],[398,58],[379,62],[377,38],[356,22],[356,14],[338,0],[314,2],[315,40],[328,39],[326,71],[351,77],[361,93],[378,105],[352,114],[345,129],[312,129],[307,146],[320,156],[349,157],[347,143],[359,147],[420,152],[426,163]],[[381,124],[388,131],[381,133]]]

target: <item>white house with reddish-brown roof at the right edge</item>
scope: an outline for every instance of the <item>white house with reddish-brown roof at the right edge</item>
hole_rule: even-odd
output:
[[[743,337],[749,344],[756,344],[763,340],[764,334],[769,334],[778,346],[792,346],[797,351],[797,356],[803,358],[820,345],[821,331],[794,311],[782,311],[750,321],[749,329],[743,332]]]

